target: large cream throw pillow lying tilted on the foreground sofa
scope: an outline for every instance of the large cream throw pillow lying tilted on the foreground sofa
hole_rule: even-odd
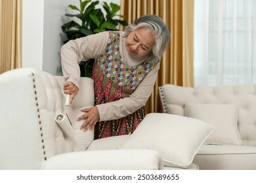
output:
[[[201,120],[150,113],[119,149],[158,150],[164,166],[186,168],[214,129]]]

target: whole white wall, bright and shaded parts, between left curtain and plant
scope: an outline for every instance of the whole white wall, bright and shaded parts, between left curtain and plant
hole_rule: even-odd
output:
[[[120,5],[119,0],[105,1]],[[62,75],[60,47],[66,35],[61,25],[70,20],[66,13],[75,14],[70,4],[79,7],[79,0],[23,0],[22,67]]]

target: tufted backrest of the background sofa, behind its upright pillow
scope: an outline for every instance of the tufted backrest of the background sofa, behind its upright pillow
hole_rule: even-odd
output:
[[[215,87],[159,87],[163,112],[185,116],[186,103],[234,104],[242,145],[256,146],[256,84]]]

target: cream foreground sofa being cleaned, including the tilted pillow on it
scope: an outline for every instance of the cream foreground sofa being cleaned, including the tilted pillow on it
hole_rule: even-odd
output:
[[[75,120],[94,105],[93,80],[81,78],[68,116],[64,82],[33,68],[0,75],[0,169],[199,169],[192,161],[212,125],[153,113],[132,135],[94,141]]]

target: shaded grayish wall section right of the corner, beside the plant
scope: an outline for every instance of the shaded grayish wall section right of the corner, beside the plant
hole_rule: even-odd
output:
[[[60,65],[60,47],[66,39],[61,26],[68,22],[65,16],[68,5],[79,6],[77,0],[45,0],[43,26],[43,71],[52,75],[62,75]],[[74,13],[74,12],[73,12]]]

